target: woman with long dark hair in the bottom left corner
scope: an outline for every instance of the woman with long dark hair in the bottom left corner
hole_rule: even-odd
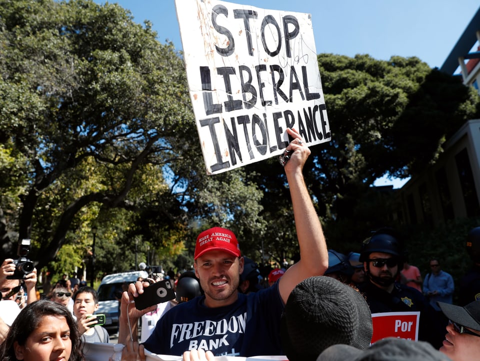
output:
[[[80,333],[66,307],[48,299],[28,304],[13,321],[0,361],[84,361]]]

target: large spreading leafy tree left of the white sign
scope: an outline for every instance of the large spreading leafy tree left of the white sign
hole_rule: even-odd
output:
[[[2,236],[33,238],[39,266],[64,244],[88,258],[91,223],[109,241],[127,234],[100,224],[102,212],[135,213],[148,195],[170,191],[162,167],[182,157],[174,145],[192,129],[183,63],[117,5],[2,2],[0,22],[2,154],[15,159],[0,172],[23,174],[3,178],[2,190],[15,188],[1,199]],[[128,229],[133,219],[108,221]]]

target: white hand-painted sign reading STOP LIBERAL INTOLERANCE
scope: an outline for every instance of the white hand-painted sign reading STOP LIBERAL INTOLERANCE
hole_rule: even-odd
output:
[[[214,0],[175,0],[208,174],[279,155],[286,128],[330,140],[311,16]]]

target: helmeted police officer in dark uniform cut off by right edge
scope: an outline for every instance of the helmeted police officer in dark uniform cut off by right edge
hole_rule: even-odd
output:
[[[466,306],[480,299],[480,227],[475,227],[468,232],[466,251],[473,265],[459,282],[458,304],[460,306]]]

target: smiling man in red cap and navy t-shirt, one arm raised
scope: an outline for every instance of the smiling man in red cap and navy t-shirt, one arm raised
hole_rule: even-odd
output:
[[[178,304],[157,322],[144,347],[158,354],[181,355],[192,349],[211,350],[215,356],[283,354],[280,317],[292,289],[302,280],[322,275],[328,266],[325,238],[305,186],[302,168],[310,154],[298,132],[287,129],[293,141],[284,171],[290,189],[300,260],[267,289],[248,295],[238,292],[244,259],[231,230],[214,227],[196,240],[195,275],[204,296]],[[280,167],[280,166],[278,166]],[[259,235],[260,236],[260,235]],[[137,334],[138,318],[155,306],[137,310],[132,303],[148,284],[130,284],[123,292],[118,342]],[[128,325],[131,325],[129,332]],[[136,337],[134,337],[136,341]]]

